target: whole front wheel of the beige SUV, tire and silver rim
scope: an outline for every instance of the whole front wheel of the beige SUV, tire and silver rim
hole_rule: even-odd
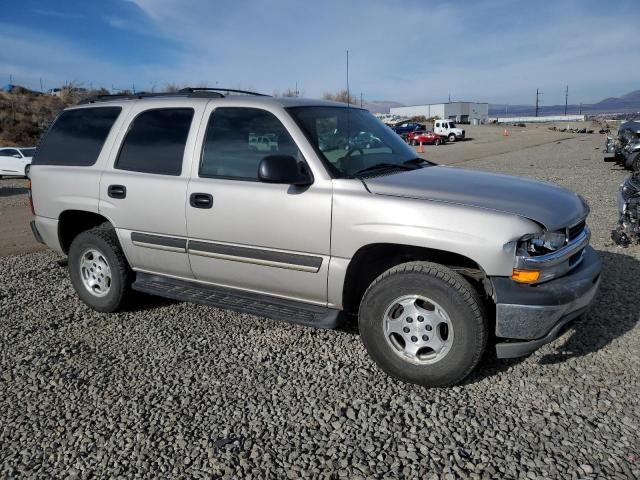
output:
[[[440,387],[464,379],[487,343],[487,320],[475,290],[442,265],[411,262],[367,289],[358,324],[367,351],[389,375]]]

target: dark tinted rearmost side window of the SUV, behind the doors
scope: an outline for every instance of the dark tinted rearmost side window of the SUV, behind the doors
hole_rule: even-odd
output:
[[[95,164],[121,110],[120,107],[65,110],[40,142],[33,165]]]

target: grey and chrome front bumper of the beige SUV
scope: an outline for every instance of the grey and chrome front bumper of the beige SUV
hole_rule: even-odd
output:
[[[496,345],[499,358],[527,355],[556,339],[562,328],[582,315],[600,285],[602,262],[586,247],[582,262],[568,274],[539,285],[507,277],[491,279],[496,300]]]

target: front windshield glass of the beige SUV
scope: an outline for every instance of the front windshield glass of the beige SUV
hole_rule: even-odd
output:
[[[376,165],[402,167],[417,158],[398,134],[367,110],[293,107],[288,111],[337,177]]]

